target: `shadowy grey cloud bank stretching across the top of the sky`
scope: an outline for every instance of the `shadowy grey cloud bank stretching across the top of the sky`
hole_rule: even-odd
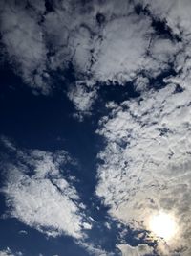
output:
[[[81,82],[70,86],[68,95],[77,110],[88,113],[96,100],[95,87],[111,81],[124,85],[137,80],[141,72],[155,78],[186,47],[184,39],[157,33],[153,20],[163,18],[172,35],[181,27],[183,35],[188,35],[188,1],[184,11],[179,1],[176,5],[175,1],[134,2],[53,1],[47,8],[43,0],[2,1],[2,44],[9,61],[16,64],[15,71],[35,92],[49,94],[56,87],[52,73],[57,71],[64,78],[64,70],[72,64],[75,80],[85,82],[84,88]],[[148,12],[135,12],[138,4]],[[87,87],[92,90],[88,97],[82,94]],[[82,100],[86,104],[81,105]]]

